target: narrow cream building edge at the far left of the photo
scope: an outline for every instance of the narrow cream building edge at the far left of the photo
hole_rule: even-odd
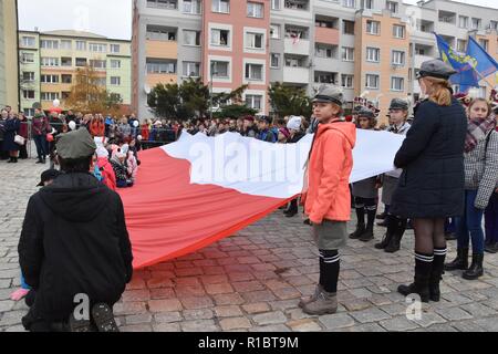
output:
[[[0,1],[0,107],[19,108],[18,3]]]

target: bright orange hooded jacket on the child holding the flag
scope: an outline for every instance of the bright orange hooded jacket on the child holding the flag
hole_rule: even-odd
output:
[[[351,220],[350,175],[356,127],[332,121],[319,126],[308,162],[304,212],[313,223]]]

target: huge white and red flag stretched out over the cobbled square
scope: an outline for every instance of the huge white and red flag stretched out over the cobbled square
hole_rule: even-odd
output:
[[[270,144],[236,133],[184,132],[144,150],[133,188],[121,189],[134,268],[181,257],[232,236],[300,195],[312,135]],[[393,170],[403,137],[357,132],[351,181]]]

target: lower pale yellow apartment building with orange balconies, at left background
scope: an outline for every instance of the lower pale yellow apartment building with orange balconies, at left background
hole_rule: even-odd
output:
[[[29,116],[34,106],[49,110],[55,98],[65,106],[79,69],[95,69],[97,84],[132,102],[131,42],[77,31],[19,32],[21,110]]]

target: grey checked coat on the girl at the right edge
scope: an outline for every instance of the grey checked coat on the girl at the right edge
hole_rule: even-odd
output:
[[[486,209],[498,184],[498,133],[492,129],[464,154],[465,189],[477,190],[475,207]]]

